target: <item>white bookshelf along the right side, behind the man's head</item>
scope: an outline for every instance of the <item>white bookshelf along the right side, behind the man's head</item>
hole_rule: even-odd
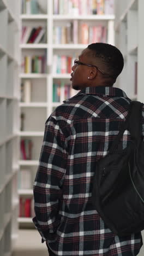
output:
[[[124,55],[124,70],[117,86],[132,100],[144,102],[143,95],[143,0],[115,0],[116,46]],[[137,75],[135,71],[137,62]],[[137,84],[137,90],[136,90]]]

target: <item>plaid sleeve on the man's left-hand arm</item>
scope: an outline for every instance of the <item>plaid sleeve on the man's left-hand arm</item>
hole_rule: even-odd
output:
[[[58,121],[50,117],[45,123],[44,140],[33,187],[33,222],[42,242],[52,239],[61,220],[58,211],[67,164],[66,144]]]

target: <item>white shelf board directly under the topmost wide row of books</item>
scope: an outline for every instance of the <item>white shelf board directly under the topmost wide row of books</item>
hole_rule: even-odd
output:
[[[114,20],[115,15],[52,15],[53,20]]]

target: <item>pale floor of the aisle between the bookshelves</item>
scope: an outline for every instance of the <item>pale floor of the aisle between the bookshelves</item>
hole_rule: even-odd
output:
[[[144,243],[144,231],[143,231]],[[144,255],[144,245],[139,256]],[[41,238],[35,229],[20,229],[15,250],[12,256],[49,256],[45,243],[41,243]]]

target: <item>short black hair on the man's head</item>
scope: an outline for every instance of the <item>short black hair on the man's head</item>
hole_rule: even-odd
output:
[[[117,78],[122,72],[123,55],[115,46],[106,43],[93,43],[88,45],[88,49],[93,51],[94,57],[98,57],[104,63],[106,71],[110,75]]]

